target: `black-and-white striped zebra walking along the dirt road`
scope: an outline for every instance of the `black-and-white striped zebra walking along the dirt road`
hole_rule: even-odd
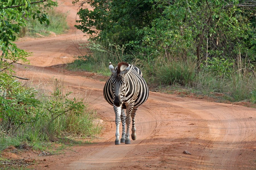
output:
[[[105,100],[110,105],[113,105],[115,111],[115,145],[120,145],[120,121],[123,126],[121,143],[130,144],[130,122],[132,119],[131,137],[136,140],[135,115],[138,107],[148,99],[148,85],[143,78],[141,70],[133,65],[120,62],[114,68],[110,62],[109,69],[112,74],[104,86],[103,95]],[[124,109],[126,109],[126,116]],[[126,133],[125,124],[127,126]]]

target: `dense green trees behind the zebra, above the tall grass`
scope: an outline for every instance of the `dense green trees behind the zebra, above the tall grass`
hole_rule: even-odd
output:
[[[126,52],[166,58],[236,58],[255,61],[253,0],[86,0],[80,25],[94,40],[126,45]],[[94,10],[83,8],[89,4]]]

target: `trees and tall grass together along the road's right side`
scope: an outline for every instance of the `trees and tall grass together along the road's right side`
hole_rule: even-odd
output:
[[[86,1],[76,27],[90,35],[69,69],[110,75],[108,63],[139,66],[151,90],[181,87],[256,103],[256,20],[251,0]],[[120,10],[122,9],[122,10]]]

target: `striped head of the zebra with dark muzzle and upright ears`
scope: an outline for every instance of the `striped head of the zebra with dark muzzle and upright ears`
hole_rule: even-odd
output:
[[[111,62],[109,63],[109,69],[112,73],[112,92],[113,92],[113,103],[115,106],[120,107],[123,102],[123,95],[126,92],[129,82],[127,81],[127,73],[131,71],[133,65],[125,62],[118,63],[117,67],[113,67]]]

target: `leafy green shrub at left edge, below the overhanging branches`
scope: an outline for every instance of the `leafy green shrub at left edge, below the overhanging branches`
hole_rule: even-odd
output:
[[[33,89],[20,86],[17,80],[6,73],[0,75],[1,128],[7,134],[13,134],[22,124],[32,123],[38,119],[39,114],[35,109],[39,101],[35,99],[36,92]]]

